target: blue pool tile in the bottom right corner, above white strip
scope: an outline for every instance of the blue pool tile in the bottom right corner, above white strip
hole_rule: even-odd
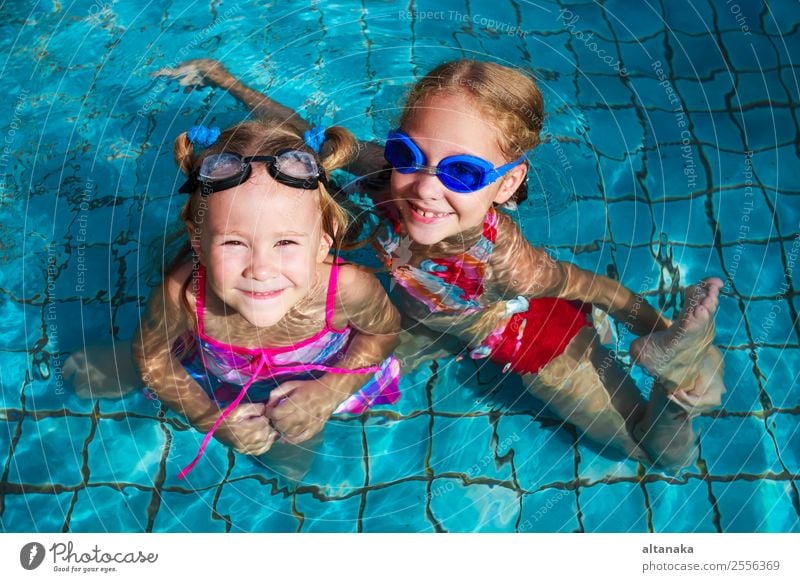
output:
[[[792,489],[786,481],[712,484],[722,530],[730,533],[800,531]]]

